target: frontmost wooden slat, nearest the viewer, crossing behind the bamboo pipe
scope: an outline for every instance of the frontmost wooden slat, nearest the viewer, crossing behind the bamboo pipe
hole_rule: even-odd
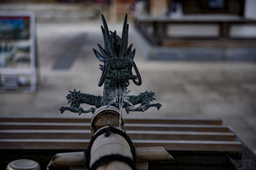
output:
[[[0,149],[84,150],[89,139],[0,139]],[[135,147],[161,147],[168,151],[241,152],[239,141],[132,140]]]

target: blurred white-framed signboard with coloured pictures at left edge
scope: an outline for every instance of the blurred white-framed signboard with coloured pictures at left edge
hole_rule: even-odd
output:
[[[35,15],[0,12],[0,87],[35,90]]]

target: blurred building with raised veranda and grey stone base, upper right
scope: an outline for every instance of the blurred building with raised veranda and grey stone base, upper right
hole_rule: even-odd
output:
[[[147,10],[136,13],[135,24],[150,44],[149,59],[255,60],[255,1],[152,0],[144,5]]]

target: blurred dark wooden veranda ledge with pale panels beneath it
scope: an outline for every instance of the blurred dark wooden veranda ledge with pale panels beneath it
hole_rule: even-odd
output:
[[[253,32],[247,32],[250,34],[250,36],[244,36],[243,31],[236,32],[236,30],[243,30],[249,27],[253,27],[253,29],[255,29],[256,24],[255,20],[250,20],[239,16],[184,15],[180,18],[171,18],[168,16],[153,17],[150,15],[135,15],[134,24],[141,35],[147,39],[148,43],[154,46],[172,46],[173,39],[175,41],[182,39],[201,39],[204,41],[207,39],[225,39],[232,40],[231,42],[233,43],[239,43],[241,40],[246,42],[244,40],[255,40],[256,38]],[[204,29],[201,30],[201,27],[204,27]],[[200,34],[200,31],[207,32]],[[188,43],[189,41],[186,42]],[[213,41],[211,42],[213,43]],[[193,43],[195,43],[195,41],[193,41]],[[219,41],[216,41],[215,44],[218,45],[218,43]],[[246,43],[250,43],[250,41],[247,41]],[[203,44],[200,43],[200,46],[201,45]],[[229,46],[230,41],[227,41],[224,43],[224,45]],[[239,43],[239,45],[241,44]]]

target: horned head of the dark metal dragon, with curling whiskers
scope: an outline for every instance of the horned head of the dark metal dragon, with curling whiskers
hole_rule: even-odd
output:
[[[100,62],[100,70],[102,75],[100,77],[99,86],[101,86],[105,80],[112,80],[117,83],[129,83],[132,80],[136,85],[141,85],[141,76],[136,64],[134,62],[135,49],[132,50],[132,44],[128,45],[128,29],[127,15],[125,15],[124,26],[122,31],[122,38],[116,35],[115,32],[108,30],[108,25],[103,15],[101,26],[104,48],[98,44],[100,52],[97,52],[93,48],[93,52]],[[132,74],[132,67],[136,75]]]

